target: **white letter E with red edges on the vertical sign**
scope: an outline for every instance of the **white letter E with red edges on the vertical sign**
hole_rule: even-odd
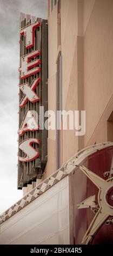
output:
[[[19,68],[19,71],[21,72],[22,79],[41,71],[41,68],[37,66],[41,63],[40,59],[30,61],[32,58],[39,56],[39,54],[40,52],[37,50],[21,57],[21,68]]]

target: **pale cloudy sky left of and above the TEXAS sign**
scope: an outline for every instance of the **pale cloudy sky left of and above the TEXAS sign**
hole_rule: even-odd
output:
[[[19,13],[47,17],[47,0],[0,0],[0,214],[17,190]]]

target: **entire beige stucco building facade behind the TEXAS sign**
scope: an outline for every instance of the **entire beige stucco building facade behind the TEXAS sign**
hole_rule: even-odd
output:
[[[63,131],[63,163],[78,150],[108,139],[113,109],[112,0],[61,0],[63,109],[86,111],[86,132]],[[48,18],[48,107],[56,109],[57,5]],[[111,133],[112,133],[111,124]],[[45,176],[56,169],[56,132],[48,132]],[[38,181],[39,182],[39,181]],[[26,188],[25,188],[26,189]]]

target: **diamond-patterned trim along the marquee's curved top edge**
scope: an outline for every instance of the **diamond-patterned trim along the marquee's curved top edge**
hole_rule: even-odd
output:
[[[75,156],[71,157],[61,168],[59,168],[55,173],[45,179],[41,184],[37,185],[33,190],[26,194],[17,203],[12,205],[8,210],[3,212],[0,216],[0,224],[7,221],[10,217],[14,216],[17,212],[22,210],[26,205],[30,204],[33,200],[41,196],[44,192],[49,190],[52,186],[57,184],[60,180],[65,178],[69,174],[74,174],[76,167],[81,163],[85,157],[95,153],[98,150],[113,146],[113,143],[106,142],[97,145],[90,146],[79,151]],[[96,216],[96,215],[95,215]]]

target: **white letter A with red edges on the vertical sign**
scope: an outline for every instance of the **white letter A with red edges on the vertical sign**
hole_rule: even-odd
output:
[[[34,111],[28,111],[25,115],[21,128],[18,130],[19,136],[22,136],[27,131],[39,130],[39,126],[35,119]]]

